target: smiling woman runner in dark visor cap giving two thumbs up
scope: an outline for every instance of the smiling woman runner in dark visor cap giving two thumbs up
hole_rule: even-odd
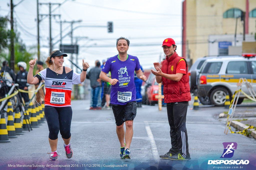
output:
[[[72,84],[80,84],[86,78],[86,71],[90,67],[83,60],[83,71],[81,74],[72,69],[63,66],[64,57],[67,54],[60,50],[52,51],[47,58],[46,69],[40,71],[33,77],[33,68],[36,65],[36,59],[29,61],[29,71],[27,82],[37,84],[39,81],[45,81],[45,117],[49,128],[49,143],[51,147],[50,160],[57,160],[57,141],[60,131],[64,140],[64,148],[68,159],[72,158],[73,151],[70,146],[70,126],[72,119],[71,109],[71,90]]]

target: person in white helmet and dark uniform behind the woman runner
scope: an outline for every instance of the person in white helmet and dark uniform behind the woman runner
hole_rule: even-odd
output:
[[[27,64],[23,61],[18,62],[19,72],[16,75],[15,83],[19,84],[19,89],[28,90],[29,84],[27,83],[27,75],[28,72],[26,71]],[[25,106],[29,104],[29,97],[28,93],[20,93],[25,101]]]

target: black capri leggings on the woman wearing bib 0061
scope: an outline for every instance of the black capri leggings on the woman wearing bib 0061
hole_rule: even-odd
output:
[[[68,107],[53,107],[45,106],[45,118],[49,128],[49,139],[58,139],[60,131],[63,139],[68,139],[71,136],[70,126],[72,119],[72,108]]]

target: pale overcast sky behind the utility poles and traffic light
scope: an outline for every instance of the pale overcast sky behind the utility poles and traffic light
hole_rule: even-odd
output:
[[[13,0],[14,5],[21,0]],[[137,56],[144,69],[153,67],[153,62],[164,57],[162,43],[165,38],[173,38],[177,45],[177,53],[181,55],[182,40],[182,0],[39,0],[39,3],[61,3],[51,5],[52,14],[52,43],[53,50],[59,49],[60,20],[78,21],[80,27],[73,31],[73,44],[78,39],[78,65],[82,68],[82,59],[94,67],[94,61],[107,59],[118,54],[116,39],[123,36],[130,40],[128,54]],[[0,15],[9,16],[10,0],[0,1]],[[39,5],[39,14],[49,14],[49,5]],[[27,49],[37,51],[37,3],[36,0],[23,0],[14,8],[15,28]],[[44,18],[44,19],[42,19]],[[40,57],[45,60],[49,56],[49,17],[40,17]],[[108,33],[107,23],[113,22],[113,33]],[[10,27],[10,25],[9,25]],[[62,36],[71,30],[70,23],[62,24]],[[56,43],[57,42],[57,43]],[[71,44],[70,36],[62,40],[62,44]],[[153,44],[153,45],[152,45]],[[102,47],[107,46],[107,47]],[[37,56],[35,56],[37,57]],[[71,54],[68,54],[70,59]],[[73,54],[76,57],[76,54]],[[64,66],[70,67],[70,62],[64,60]],[[74,68],[73,68],[74,69]],[[76,70],[76,69],[74,69]]]

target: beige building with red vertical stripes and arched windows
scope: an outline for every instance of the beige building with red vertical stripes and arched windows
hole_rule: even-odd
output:
[[[255,41],[255,0],[184,0],[182,7],[182,55],[193,63],[213,50],[227,53],[228,46],[239,46],[243,37]],[[216,49],[209,49],[216,43]]]

